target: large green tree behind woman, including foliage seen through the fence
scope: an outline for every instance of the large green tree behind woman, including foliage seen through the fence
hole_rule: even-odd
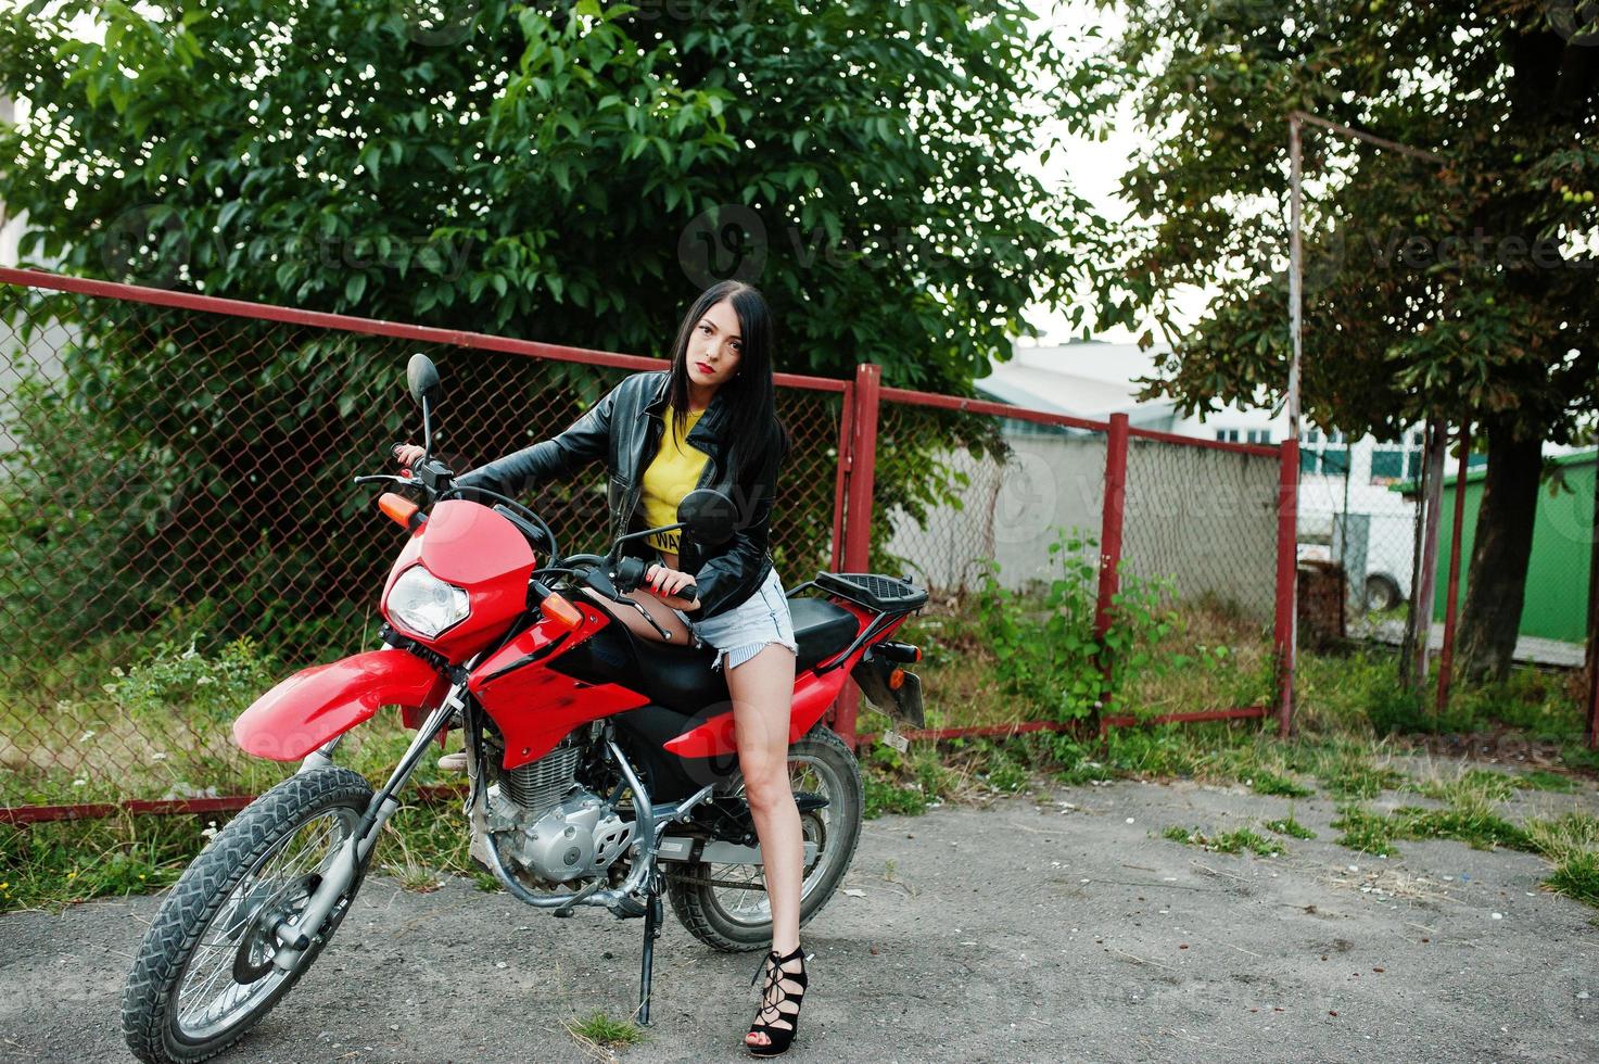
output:
[[[646,355],[740,277],[774,307],[779,370],[876,362],[889,384],[971,394],[1033,334],[1025,306],[1068,302],[1099,238],[1081,200],[1025,173],[1047,120],[1100,106],[1060,67],[1022,0],[38,0],[0,16],[0,93],[30,104],[0,126],[0,202],[27,211],[24,256],[69,274]],[[192,597],[195,557],[214,587],[293,614],[365,602],[382,544],[342,534],[365,499],[329,506],[326,486],[414,430],[397,344],[0,299],[0,320],[45,317],[77,342],[24,419],[18,557],[102,558],[106,579],[77,582],[115,573],[141,613],[77,610],[74,632]],[[462,365],[454,448],[504,453],[529,395],[553,430],[614,379]],[[74,478],[74,419],[160,498],[114,520]],[[815,554],[836,459],[809,427],[784,520]],[[998,437],[950,418],[905,443],[879,499],[915,510],[950,490],[932,454]],[[40,587],[61,584],[40,565]]]

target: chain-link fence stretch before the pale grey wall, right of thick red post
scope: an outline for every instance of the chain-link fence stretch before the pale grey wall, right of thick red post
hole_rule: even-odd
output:
[[[1039,715],[1020,696],[1033,666],[1007,669],[1027,648],[1004,646],[995,635],[1004,624],[987,614],[985,597],[1001,595],[1038,640],[1060,643],[1043,669],[1059,670],[1079,640],[1105,643],[1118,614],[1138,632],[1137,646],[1118,651],[1135,667],[1108,706],[1092,707],[1113,723],[1265,715],[1276,680],[1276,448],[1126,426],[1118,435],[1110,422],[884,389],[876,475],[871,557],[932,594],[907,638],[932,648],[923,690],[934,728]],[[1121,490],[1107,499],[1113,480]],[[1107,570],[1118,579],[1105,582]],[[1009,690],[993,682],[1007,672]],[[1051,683],[1070,677],[1059,670]]]

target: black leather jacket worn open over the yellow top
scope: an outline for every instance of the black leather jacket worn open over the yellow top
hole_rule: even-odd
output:
[[[606,459],[609,474],[611,536],[614,542],[627,531],[640,531],[635,518],[643,493],[644,467],[654,461],[665,434],[667,373],[664,370],[635,373],[595,403],[588,413],[552,440],[542,440],[505,458],[457,477],[456,485],[488,488],[515,498],[529,485],[555,477],[569,477],[582,464]],[[683,531],[678,568],[694,574],[699,610],[694,619],[713,618],[737,606],[766,579],[772,568],[769,518],[777,494],[777,456],[772,454],[750,482],[736,483],[729,469],[726,390],[718,389],[705,414],[689,429],[684,442],[710,459],[700,475],[700,488],[715,488],[734,501],[737,510],[732,539],[715,547],[702,547]],[[624,554],[657,560],[643,539],[624,544]]]

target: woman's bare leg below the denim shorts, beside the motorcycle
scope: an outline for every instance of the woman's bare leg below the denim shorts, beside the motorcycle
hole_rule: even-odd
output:
[[[739,770],[755,834],[761,840],[766,898],[772,906],[772,949],[784,955],[800,946],[800,885],[804,878],[804,837],[788,779],[793,691],[795,654],[777,643],[768,643],[728,670]],[[761,1022],[772,1019],[772,1014],[761,1016]],[[768,1043],[764,1034],[750,1034],[747,1040],[750,1045]]]

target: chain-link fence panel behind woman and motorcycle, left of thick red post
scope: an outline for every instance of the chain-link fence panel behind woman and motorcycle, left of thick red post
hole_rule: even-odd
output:
[[[403,533],[350,482],[421,442],[413,352],[440,368],[435,451],[454,469],[556,435],[664,365],[198,302],[0,285],[0,806],[205,798],[281,774],[229,725],[288,672],[377,645]],[[844,392],[779,387],[788,584],[831,565]],[[563,550],[604,549],[598,467],[526,501]],[[393,717],[361,730],[374,758],[400,741]]]

